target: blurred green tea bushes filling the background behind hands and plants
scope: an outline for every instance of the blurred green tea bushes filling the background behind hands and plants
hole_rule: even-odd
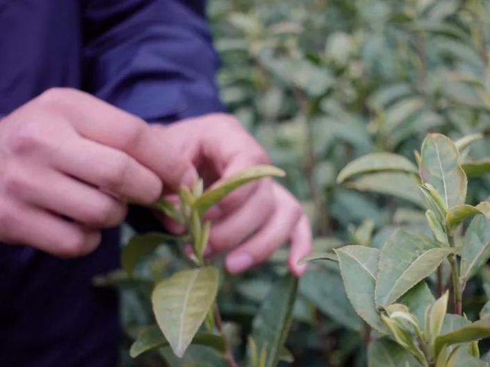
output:
[[[377,173],[386,176],[363,176],[345,187],[336,175],[373,151],[414,160],[427,132],[489,135],[490,1],[211,0],[209,19],[222,60],[222,100],[267,148],[272,164],[286,170],[283,183],[302,200],[316,249],[379,246],[396,228],[427,230],[420,198],[405,178]],[[488,157],[487,143],[474,144],[470,157]],[[488,177],[470,185],[472,202],[489,196]],[[152,284],[145,277],[180,266],[171,246],[161,250],[139,280],[120,282],[129,336],[151,318],[142,302]],[[285,271],[286,250],[224,280],[220,305],[237,355],[272,278]],[[482,305],[489,273],[468,287],[466,307]],[[369,337],[338,267],[312,264],[300,281],[290,366],[366,366]],[[124,365],[224,366],[202,348],[193,347],[183,361],[169,356],[161,351]]]

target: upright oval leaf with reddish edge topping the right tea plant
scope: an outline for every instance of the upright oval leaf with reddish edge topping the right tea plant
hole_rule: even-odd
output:
[[[420,177],[439,191],[446,208],[464,204],[466,173],[459,165],[459,152],[448,137],[430,134],[424,139]]]

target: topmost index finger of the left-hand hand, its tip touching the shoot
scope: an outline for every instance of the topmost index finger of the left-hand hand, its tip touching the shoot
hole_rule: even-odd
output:
[[[128,153],[174,189],[195,180],[190,160],[183,159],[165,133],[156,133],[133,114],[74,89],[50,89],[32,105],[39,103],[68,117],[81,136]]]

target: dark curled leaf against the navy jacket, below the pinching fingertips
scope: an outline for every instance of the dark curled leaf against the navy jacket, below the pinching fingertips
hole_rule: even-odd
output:
[[[150,232],[146,234],[137,234],[131,237],[129,242],[122,248],[121,262],[124,270],[132,275],[136,264],[140,259],[158,248],[158,246],[169,241],[181,241],[182,237],[172,236],[159,232]]]

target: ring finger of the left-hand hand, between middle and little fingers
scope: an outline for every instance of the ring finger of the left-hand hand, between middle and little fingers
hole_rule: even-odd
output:
[[[56,171],[33,170],[23,167],[11,172],[8,194],[97,228],[112,227],[124,220],[126,205],[121,200]]]

